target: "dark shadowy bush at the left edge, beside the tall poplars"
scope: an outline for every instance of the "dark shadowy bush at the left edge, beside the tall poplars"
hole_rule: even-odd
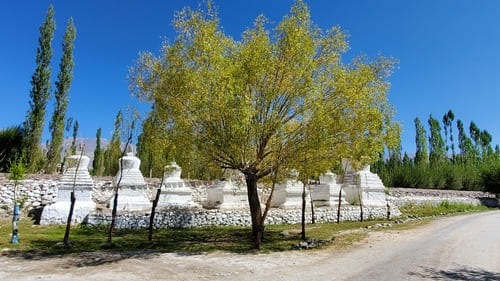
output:
[[[20,126],[0,130],[0,172],[6,173],[22,156],[23,142],[24,130]]]

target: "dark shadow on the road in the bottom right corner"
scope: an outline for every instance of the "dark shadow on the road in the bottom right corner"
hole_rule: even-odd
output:
[[[478,267],[456,267],[449,270],[421,267],[421,272],[410,272],[409,275],[432,280],[500,280],[500,272],[491,272]]]

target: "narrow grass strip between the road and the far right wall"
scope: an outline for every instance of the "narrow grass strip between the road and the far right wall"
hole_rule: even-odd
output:
[[[489,210],[488,207],[483,205],[472,205],[465,203],[456,203],[443,201],[440,204],[407,204],[399,207],[403,217],[405,216],[417,216],[417,217],[430,217],[440,214],[450,214],[450,213],[462,213],[462,212],[472,212],[472,211],[486,211]]]

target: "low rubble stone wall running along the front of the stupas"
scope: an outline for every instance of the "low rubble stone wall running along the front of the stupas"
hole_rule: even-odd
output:
[[[317,207],[314,208],[316,222],[335,222],[337,221],[337,208]],[[391,216],[400,216],[397,208],[391,208]],[[387,208],[385,207],[364,207],[364,219],[386,218]],[[341,207],[341,221],[358,221],[360,219],[359,206]],[[312,215],[310,211],[306,212],[306,221],[311,223]],[[93,226],[108,225],[111,222],[109,212],[94,212],[87,221],[87,224]],[[266,224],[298,224],[301,223],[300,209],[277,209],[269,210],[266,218]],[[232,225],[249,226],[251,225],[250,211],[245,209],[238,210],[208,210],[208,209],[184,209],[184,210],[162,210],[155,214],[155,228],[186,228],[198,226],[214,225]],[[126,213],[118,214],[116,218],[116,227],[124,229],[145,228],[149,226],[149,213]]]

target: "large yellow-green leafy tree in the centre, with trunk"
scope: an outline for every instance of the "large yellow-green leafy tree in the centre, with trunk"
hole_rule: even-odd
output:
[[[155,103],[174,154],[196,147],[203,161],[245,175],[257,248],[264,230],[259,180],[278,167],[307,167],[303,159],[375,161],[399,132],[386,96],[392,60],[343,64],[346,35],[315,26],[302,1],[274,30],[266,24],[259,16],[235,41],[210,2],[206,10],[186,8],[176,14],[175,41],[159,57],[143,54],[130,77],[134,93]]]

